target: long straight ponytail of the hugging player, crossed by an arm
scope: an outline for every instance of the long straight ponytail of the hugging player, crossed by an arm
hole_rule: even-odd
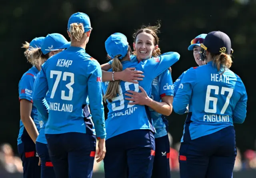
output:
[[[122,65],[121,61],[118,59],[118,57],[120,57],[120,56],[121,55],[116,55],[111,64],[112,70],[115,72],[120,72],[123,70],[123,65]],[[112,99],[114,97],[116,97],[117,93],[120,95],[119,83],[120,83],[120,80],[109,81],[107,91],[103,97],[105,103],[106,103],[107,99],[111,103]]]

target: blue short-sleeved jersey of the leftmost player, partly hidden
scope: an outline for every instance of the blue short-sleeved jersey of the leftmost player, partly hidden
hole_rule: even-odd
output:
[[[36,75],[38,74],[38,69],[33,66],[31,67],[28,71],[26,71],[26,73],[24,73],[20,79],[19,82],[19,99],[26,99],[28,101],[31,101],[33,103],[32,100],[32,93],[33,93],[33,87],[34,87],[34,81],[36,78]],[[36,128],[39,131],[39,122],[38,122],[38,115],[37,115],[37,109],[35,107],[35,105],[33,104],[32,106],[32,111],[31,111],[31,117],[34,120],[34,123],[36,125]],[[23,138],[30,138],[30,136],[28,135],[26,129],[24,128],[24,125],[22,123],[22,121],[20,120],[20,132],[18,135],[18,144],[22,143]]]

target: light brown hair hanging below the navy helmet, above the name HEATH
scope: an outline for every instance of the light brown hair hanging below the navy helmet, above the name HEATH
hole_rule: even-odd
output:
[[[216,54],[213,57],[213,65],[216,65],[218,71],[224,69],[222,73],[224,73],[225,70],[229,69],[232,65],[232,58],[231,55],[226,53],[220,53]]]

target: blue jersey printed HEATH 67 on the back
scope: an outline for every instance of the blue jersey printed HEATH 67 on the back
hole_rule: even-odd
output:
[[[184,75],[173,101],[178,114],[185,113],[189,104],[181,142],[244,122],[247,102],[244,84],[229,69],[220,73],[211,61],[188,69]]]

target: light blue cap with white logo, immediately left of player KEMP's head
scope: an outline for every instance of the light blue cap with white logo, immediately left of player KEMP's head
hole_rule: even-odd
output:
[[[58,51],[70,46],[70,42],[66,38],[58,33],[48,34],[42,42],[42,53],[47,54],[50,51]]]

